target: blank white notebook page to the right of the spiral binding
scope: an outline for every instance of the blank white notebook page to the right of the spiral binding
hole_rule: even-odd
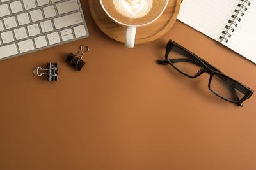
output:
[[[241,22],[237,22],[238,26],[234,27],[235,31],[228,38],[228,43],[222,43],[256,63],[256,1],[251,2],[247,6],[248,10],[244,11]]]

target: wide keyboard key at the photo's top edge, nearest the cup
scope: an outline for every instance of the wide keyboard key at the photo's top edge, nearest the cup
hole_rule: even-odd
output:
[[[58,3],[56,4],[56,7],[60,15],[71,12],[71,11],[79,10],[79,5],[77,3],[77,0],[70,0],[70,1],[65,1],[63,3]]]

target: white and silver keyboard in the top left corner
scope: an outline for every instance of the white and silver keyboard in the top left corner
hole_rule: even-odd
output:
[[[79,0],[0,0],[0,60],[88,35]]]

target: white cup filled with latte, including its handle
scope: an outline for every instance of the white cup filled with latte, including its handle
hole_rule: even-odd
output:
[[[133,48],[136,28],[159,18],[169,0],[100,0],[102,9],[117,24],[127,27],[125,46]]]

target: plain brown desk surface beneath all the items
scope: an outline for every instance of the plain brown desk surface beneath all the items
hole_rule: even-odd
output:
[[[0,169],[256,169],[256,97],[244,107],[156,60],[173,39],[256,90],[249,60],[176,22],[162,38],[127,49],[95,25],[90,37],[0,62]],[[65,63],[90,46],[86,67]],[[31,74],[60,64],[58,82]]]

